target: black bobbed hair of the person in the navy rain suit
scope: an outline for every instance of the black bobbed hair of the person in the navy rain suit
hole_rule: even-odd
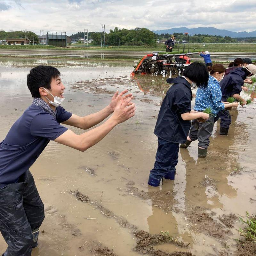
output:
[[[195,61],[185,68],[183,76],[195,82],[198,87],[204,88],[208,84],[209,72],[204,63]]]

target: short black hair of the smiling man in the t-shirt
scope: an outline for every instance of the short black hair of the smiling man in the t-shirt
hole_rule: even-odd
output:
[[[28,89],[33,98],[40,98],[39,88],[51,90],[52,78],[60,76],[60,71],[52,66],[37,66],[32,68],[27,76]]]

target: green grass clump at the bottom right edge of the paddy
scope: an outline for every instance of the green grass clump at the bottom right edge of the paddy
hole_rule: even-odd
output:
[[[246,240],[256,244],[256,216],[253,214],[250,216],[248,212],[246,212],[246,216],[246,221],[240,218],[240,221],[246,224],[244,229],[239,228],[240,236],[244,236]]]

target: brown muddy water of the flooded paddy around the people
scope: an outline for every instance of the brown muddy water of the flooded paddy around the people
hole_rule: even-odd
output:
[[[134,229],[150,234],[168,231],[190,243],[187,248],[154,245],[170,253],[223,255],[236,250],[233,239],[239,236],[235,228],[241,223],[228,228],[221,224],[220,216],[255,213],[254,104],[232,110],[228,136],[220,136],[219,123],[215,124],[207,158],[198,159],[196,142],[192,143],[187,150],[180,150],[175,181],[152,188],[147,179],[157,148],[153,134],[156,117],[169,88],[165,78],[131,78],[131,63],[1,58],[0,140],[31,104],[26,76],[39,64],[60,69],[66,85],[63,107],[72,113],[84,116],[99,111],[113,92],[125,88],[133,92],[137,110],[136,116],[86,152],[50,142],[31,166],[46,216],[33,256],[89,255],[92,241],[108,246],[116,255],[139,255],[133,250],[138,241]],[[253,96],[250,93],[244,97]],[[77,189],[89,202],[70,193]],[[205,215],[198,217],[203,209]],[[0,237],[0,253],[5,248]]]

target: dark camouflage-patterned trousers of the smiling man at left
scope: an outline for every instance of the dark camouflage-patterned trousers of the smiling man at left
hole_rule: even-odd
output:
[[[30,256],[32,230],[44,220],[44,204],[32,174],[27,170],[18,183],[0,189],[0,231],[8,247],[4,256]]]

